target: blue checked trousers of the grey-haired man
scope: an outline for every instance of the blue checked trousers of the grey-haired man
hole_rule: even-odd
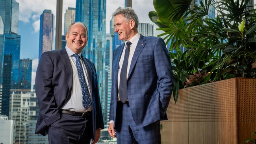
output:
[[[161,144],[160,120],[145,127],[136,126],[129,105],[117,103],[115,128],[118,144]]]

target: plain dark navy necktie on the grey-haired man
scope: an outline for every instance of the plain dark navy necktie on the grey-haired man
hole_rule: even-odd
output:
[[[120,72],[120,83],[119,83],[119,98],[122,103],[124,103],[128,96],[127,96],[127,66],[128,66],[128,59],[130,53],[130,45],[132,42],[126,42],[126,49],[124,53],[124,61],[122,63],[122,69]]]

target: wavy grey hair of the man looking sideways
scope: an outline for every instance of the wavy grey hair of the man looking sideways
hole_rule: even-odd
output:
[[[139,19],[132,7],[118,7],[115,12],[112,14],[112,18],[114,19],[116,15],[122,15],[126,22],[128,23],[130,20],[134,20],[135,28],[139,26]]]

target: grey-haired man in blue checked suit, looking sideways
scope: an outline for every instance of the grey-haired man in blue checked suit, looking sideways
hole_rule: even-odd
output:
[[[119,144],[160,144],[174,83],[165,42],[139,34],[130,7],[119,7],[113,18],[125,43],[113,51],[109,135]]]

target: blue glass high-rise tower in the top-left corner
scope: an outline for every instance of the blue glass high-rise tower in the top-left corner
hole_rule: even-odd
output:
[[[4,23],[4,33],[18,33],[19,3],[15,0],[0,0],[0,15]]]

